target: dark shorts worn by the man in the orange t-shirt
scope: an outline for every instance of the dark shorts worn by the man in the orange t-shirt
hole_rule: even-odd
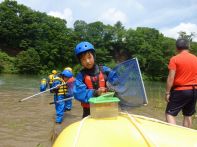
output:
[[[171,92],[166,113],[172,116],[182,110],[184,116],[192,116],[196,110],[197,90],[174,90]]]

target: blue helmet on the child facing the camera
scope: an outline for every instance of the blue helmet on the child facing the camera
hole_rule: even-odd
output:
[[[94,46],[89,42],[86,42],[86,41],[81,42],[77,44],[77,46],[75,47],[76,56],[86,51],[95,51]]]

